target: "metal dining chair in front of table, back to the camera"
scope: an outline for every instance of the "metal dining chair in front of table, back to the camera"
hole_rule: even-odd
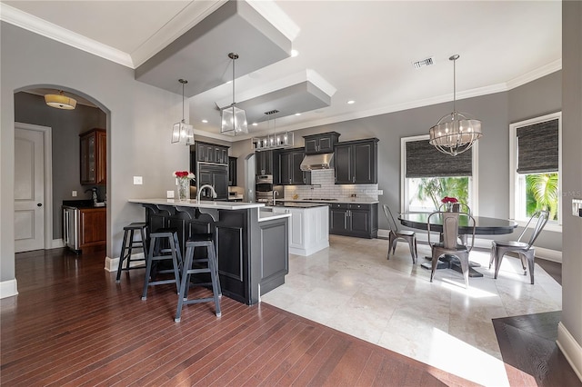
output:
[[[472,227],[471,245],[458,243],[458,226],[461,217],[467,218],[467,225]],[[435,232],[435,225],[442,224],[442,232],[440,242],[431,243],[431,221],[433,225],[433,232]],[[441,222],[442,221],[442,222]],[[475,244],[475,218],[468,213],[451,213],[437,211],[428,215],[426,220],[426,229],[428,231],[428,245],[432,250],[432,270],[430,272],[430,282],[433,282],[435,271],[437,270],[438,259],[443,255],[453,255],[458,258],[461,263],[461,271],[465,278],[465,287],[469,287],[469,253],[473,250]]]

